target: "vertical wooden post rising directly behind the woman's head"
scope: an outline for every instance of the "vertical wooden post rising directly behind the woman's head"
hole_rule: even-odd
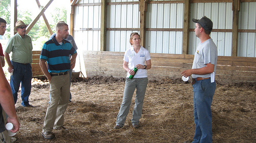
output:
[[[140,39],[141,46],[146,46],[146,11],[147,11],[147,3],[149,0],[141,0],[140,1]]]

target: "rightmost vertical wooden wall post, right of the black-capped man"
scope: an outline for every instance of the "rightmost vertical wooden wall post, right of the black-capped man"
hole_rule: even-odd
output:
[[[238,55],[238,11],[240,7],[240,0],[233,0],[233,26],[232,26],[232,50],[231,56]]]

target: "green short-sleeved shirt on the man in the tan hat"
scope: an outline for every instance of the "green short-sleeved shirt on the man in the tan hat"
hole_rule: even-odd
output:
[[[28,35],[24,38],[18,33],[11,37],[6,45],[5,52],[11,53],[13,62],[27,64],[32,63],[32,40]]]

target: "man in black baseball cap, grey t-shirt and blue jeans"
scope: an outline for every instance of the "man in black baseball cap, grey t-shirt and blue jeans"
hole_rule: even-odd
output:
[[[182,76],[192,76],[194,92],[194,121],[196,131],[193,143],[212,142],[211,102],[216,89],[215,72],[218,59],[217,46],[210,38],[212,21],[203,16],[192,19],[196,23],[195,34],[201,40],[198,44],[192,69]]]

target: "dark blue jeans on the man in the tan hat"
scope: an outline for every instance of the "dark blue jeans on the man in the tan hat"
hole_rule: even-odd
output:
[[[13,75],[11,75],[10,86],[12,90],[12,95],[14,98],[14,103],[16,104],[18,98],[18,90],[20,82],[22,83],[22,105],[29,105],[29,95],[31,92],[31,79],[32,79],[32,68],[31,65],[24,65],[11,61],[13,66]]]

